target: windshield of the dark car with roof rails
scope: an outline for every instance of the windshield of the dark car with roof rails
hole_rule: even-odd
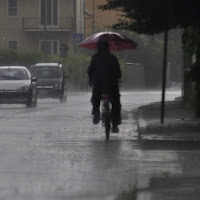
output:
[[[34,67],[31,72],[37,79],[61,78],[61,70],[59,67]]]

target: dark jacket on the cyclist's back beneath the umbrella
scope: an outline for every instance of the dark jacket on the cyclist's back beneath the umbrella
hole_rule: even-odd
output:
[[[120,65],[110,52],[93,55],[88,67],[89,83],[93,87],[112,88],[121,78]]]

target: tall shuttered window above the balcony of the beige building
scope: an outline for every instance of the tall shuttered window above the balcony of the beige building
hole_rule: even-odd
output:
[[[57,26],[58,25],[58,0],[40,0],[40,16],[41,25],[45,23],[46,12],[46,25]]]

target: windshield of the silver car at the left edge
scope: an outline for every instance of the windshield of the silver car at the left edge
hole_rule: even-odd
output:
[[[27,80],[28,75],[23,68],[0,68],[0,80]]]

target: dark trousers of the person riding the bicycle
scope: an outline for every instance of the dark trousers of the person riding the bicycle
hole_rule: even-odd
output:
[[[112,124],[121,124],[121,103],[118,85],[111,87],[110,89],[104,89],[101,86],[93,86],[91,102],[93,105],[92,113],[100,113],[100,101],[101,95],[106,92],[109,95],[112,104]]]

